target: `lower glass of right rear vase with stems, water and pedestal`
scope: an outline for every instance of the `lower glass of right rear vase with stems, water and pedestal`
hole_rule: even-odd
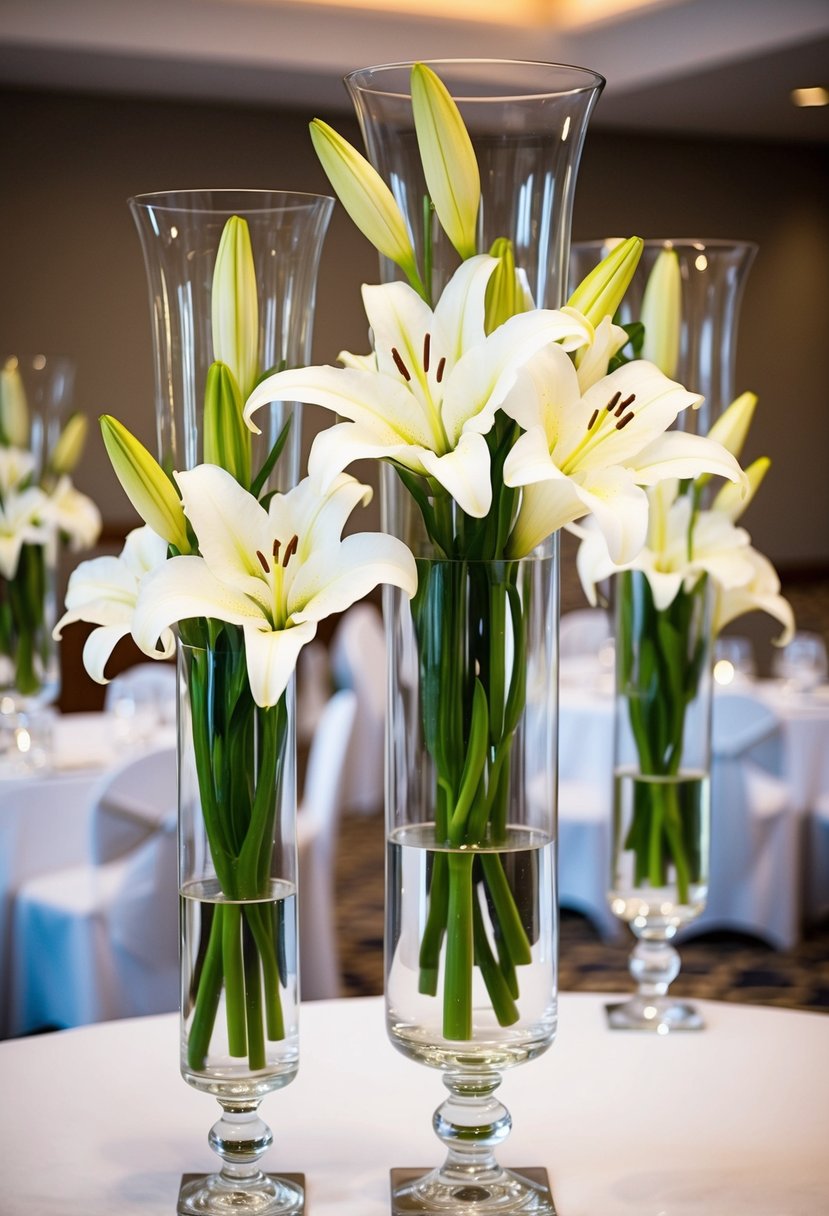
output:
[[[706,576],[656,607],[644,574],[614,578],[616,703],[609,902],[633,930],[633,997],[616,1029],[697,1030],[698,1010],[669,993],[672,945],[705,910],[710,854],[711,590]]]

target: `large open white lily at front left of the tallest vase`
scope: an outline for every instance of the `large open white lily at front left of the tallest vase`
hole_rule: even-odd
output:
[[[462,263],[434,313],[406,283],[363,287],[374,366],[340,355],[348,366],[280,372],[253,392],[246,421],[252,426],[273,398],[333,410],[350,421],[314,441],[309,471],[322,484],[351,461],[384,457],[434,478],[467,514],[483,518],[492,497],[484,435],[519,368],[551,342],[575,349],[593,337],[579,314],[543,309],[487,336],[486,286],[496,265],[486,254]]]

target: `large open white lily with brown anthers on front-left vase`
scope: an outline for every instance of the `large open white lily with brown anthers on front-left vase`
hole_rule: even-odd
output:
[[[380,582],[417,589],[414,558],[374,533],[342,539],[348,517],[371,489],[338,477],[327,494],[305,478],[265,510],[225,472],[202,465],[177,473],[199,557],[173,557],[141,587],[134,636],[152,648],[175,621],[213,617],[244,630],[250,691],[258,705],[282,696],[317,623],[343,612]]]

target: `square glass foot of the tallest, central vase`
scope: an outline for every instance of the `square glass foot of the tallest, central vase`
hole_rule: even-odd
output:
[[[480,1173],[474,1183],[447,1177],[445,1170],[391,1170],[391,1216],[445,1212],[489,1216],[490,1212],[532,1212],[556,1216],[553,1194],[543,1166]]]

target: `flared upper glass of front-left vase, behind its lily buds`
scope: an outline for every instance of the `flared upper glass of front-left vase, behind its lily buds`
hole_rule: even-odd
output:
[[[333,199],[284,191],[184,190],[140,195],[129,206],[150,287],[158,456],[165,468],[192,468],[204,458],[204,389],[216,358],[213,272],[227,220],[239,216],[250,233],[261,376],[310,361],[317,268]],[[252,387],[241,385],[243,396]],[[300,409],[299,402],[273,401],[256,415],[265,452],[293,417],[272,488],[287,490],[299,479]]]

